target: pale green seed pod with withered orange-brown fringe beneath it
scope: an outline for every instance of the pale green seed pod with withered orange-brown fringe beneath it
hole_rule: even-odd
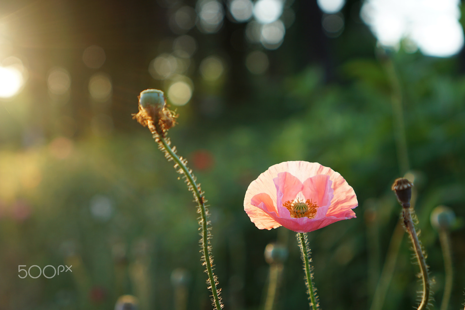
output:
[[[164,136],[176,124],[177,115],[166,107],[165,95],[158,89],[146,89],[139,96],[139,113],[133,114],[142,126]]]

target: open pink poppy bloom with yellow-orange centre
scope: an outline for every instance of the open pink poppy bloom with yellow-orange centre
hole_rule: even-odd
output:
[[[357,196],[345,179],[317,162],[281,162],[250,183],[244,210],[259,229],[309,232],[355,216]]]

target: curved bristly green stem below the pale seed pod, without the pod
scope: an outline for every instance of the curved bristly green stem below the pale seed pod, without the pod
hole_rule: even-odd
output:
[[[182,159],[182,157],[178,157],[176,154],[176,147],[171,148],[171,142],[165,137],[161,137],[157,134],[154,134],[154,137],[155,141],[158,140],[157,142],[159,142],[160,149],[165,151],[165,157],[168,159],[168,161],[173,160],[176,163],[174,168],[178,169],[178,172],[182,173],[186,178],[187,187],[190,191],[193,192],[195,202],[198,204],[197,212],[200,214],[199,225],[201,227],[200,236],[202,236],[200,239],[202,243],[202,259],[204,260],[203,264],[206,266],[206,273],[208,274],[207,284],[210,285],[209,289],[212,291],[214,309],[220,310],[223,305],[221,304],[219,289],[216,288],[218,285],[218,280],[213,274],[213,256],[211,254],[212,246],[210,245],[212,234],[210,233],[210,222],[207,221],[209,214],[205,205],[205,196],[200,189],[200,185],[195,182],[196,178],[192,174],[192,170],[187,168],[186,159]]]

